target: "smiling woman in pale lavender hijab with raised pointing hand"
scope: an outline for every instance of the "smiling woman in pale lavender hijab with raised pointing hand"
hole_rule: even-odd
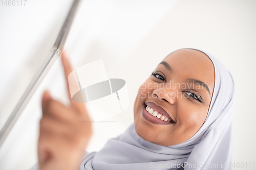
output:
[[[62,63],[67,79],[72,69],[65,54]],[[71,106],[63,106],[45,92],[39,169],[231,169],[234,100],[232,76],[217,58],[177,50],[140,86],[134,123],[80,163],[92,134],[87,111],[71,98]]]

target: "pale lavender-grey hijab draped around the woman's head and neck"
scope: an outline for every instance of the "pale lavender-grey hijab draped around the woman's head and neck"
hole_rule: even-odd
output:
[[[132,123],[100,151],[87,153],[80,170],[231,169],[234,82],[216,57],[203,53],[214,64],[215,85],[205,122],[193,137],[177,145],[157,145],[138,136]]]

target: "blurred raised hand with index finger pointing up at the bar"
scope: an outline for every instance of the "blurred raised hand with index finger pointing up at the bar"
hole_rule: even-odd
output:
[[[84,104],[73,102],[70,96],[68,76],[72,68],[65,52],[61,59],[71,106],[67,107],[53,100],[47,91],[42,97],[38,140],[40,170],[79,169],[84,149],[92,135],[90,117]]]

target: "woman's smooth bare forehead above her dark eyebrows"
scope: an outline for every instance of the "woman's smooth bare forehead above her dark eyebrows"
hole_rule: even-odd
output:
[[[197,79],[205,82],[212,92],[215,81],[214,64],[203,52],[182,49],[169,54],[163,61],[172,67],[170,75],[177,76],[182,80]]]

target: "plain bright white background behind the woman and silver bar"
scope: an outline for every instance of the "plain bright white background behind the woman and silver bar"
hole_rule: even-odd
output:
[[[71,0],[27,0],[26,6],[0,2],[0,127],[49,53],[71,4]],[[73,67],[103,59],[108,77],[124,79],[130,95],[129,108],[108,119],[112,123],[94,123],[87,150],[98,151],[106,140],[121,134],[133,122],[140,84],[166,55],[191,47],[216,56],[231,72],[237,93],[233,161],[256,162],[255,9],[256,1],[244,0],[82,1],[66,43]],[[0,169],[28,169],[37,161],[45,89],[68,104],[60,59],[0,148]]]

